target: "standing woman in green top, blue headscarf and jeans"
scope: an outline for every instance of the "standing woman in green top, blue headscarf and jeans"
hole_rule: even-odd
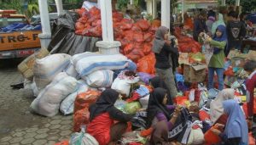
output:
[[[200,34],[200,39],[204,33]],[[213,55],[208,64],[208,89],[213,88],[214,72],[218,75],[218,90],[224,89],[224,47],[226,46],[227,36],[224,25],[218,25],[213,38],[208,37],[206,42],[213,47]],[[200,40],[200,42],[202,42]]]

